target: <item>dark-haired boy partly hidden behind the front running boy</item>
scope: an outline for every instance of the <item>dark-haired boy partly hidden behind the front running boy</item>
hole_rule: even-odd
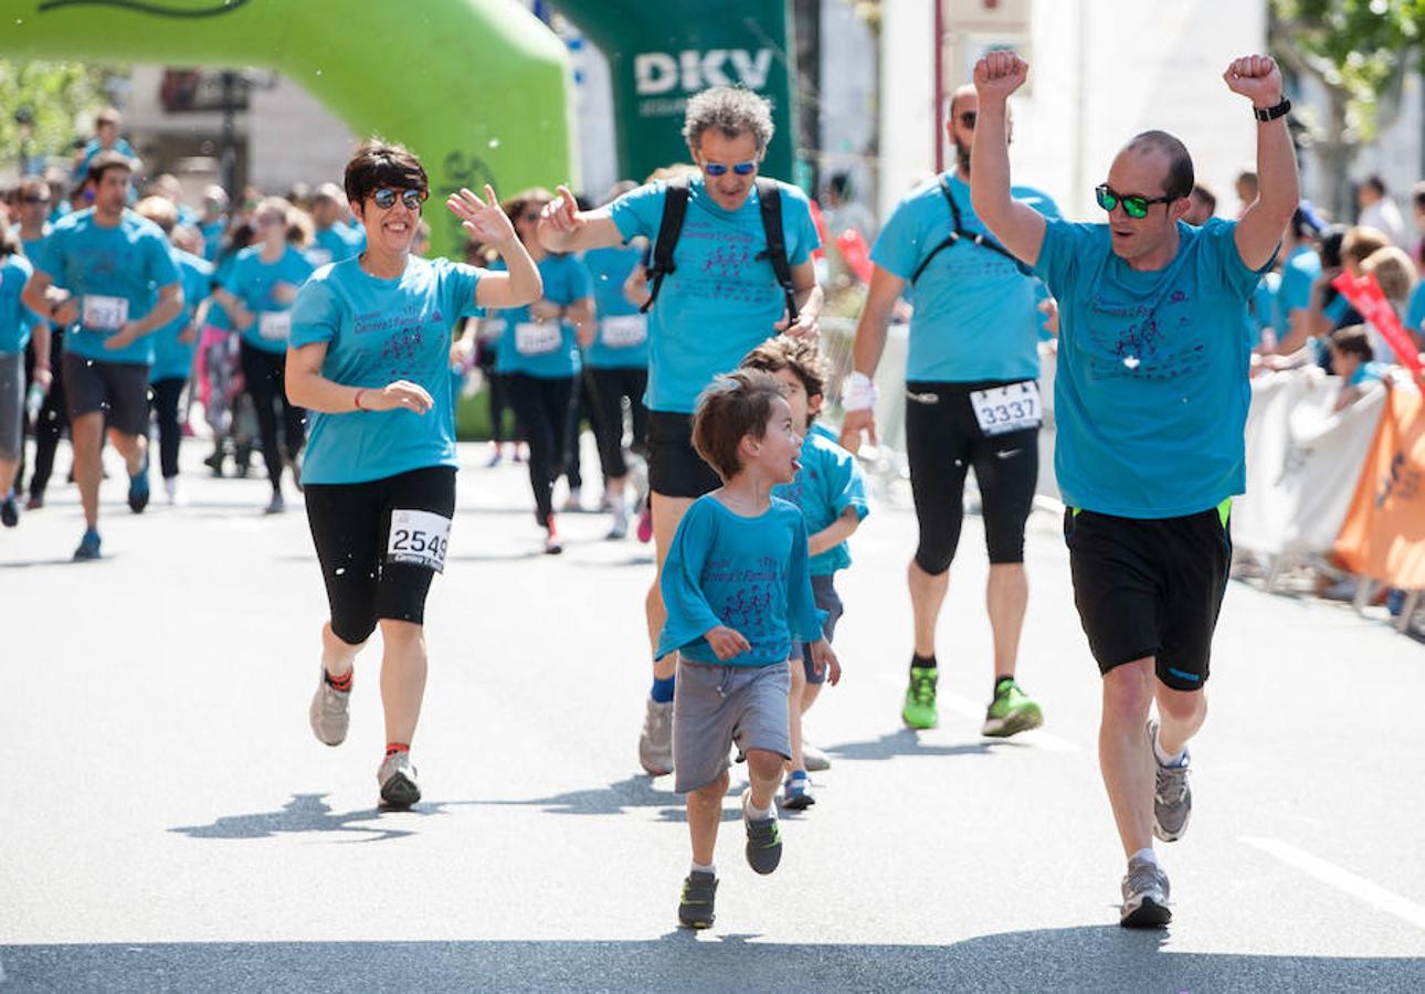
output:
[[[836,570],[851,565],[846,538],[861,527],[868,511],[865,481],[851,453],[814,424],[826,390],[826,360],[815,343],[782,335],[752,349],[742,366],[777,377],[792,409],[792,427],[802,436],[801,470],[789,484],[774,488],[772,496],[797,504],[807,518],[811,587],[817,607],[826,612],[822,634],[829,642],[844,611],[836,595]],[[817,802],[807,775],[802,715],[815,703],[825,672],[811,664],[799,644],[792,647],[791,669],[792,758],[791,775],[782,785],[782,807],[804,810]]]

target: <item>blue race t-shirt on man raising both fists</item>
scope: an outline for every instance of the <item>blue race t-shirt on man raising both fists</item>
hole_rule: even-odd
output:
[[[1049,221],[1036,272],[1059,299],[1054,470],[1070,507],[1167,518],[1245,487],[1251,387],[1243,309],[1263,271],[1237,222],[1178,222],[1178,251],[1139,272],[1104,224]]]

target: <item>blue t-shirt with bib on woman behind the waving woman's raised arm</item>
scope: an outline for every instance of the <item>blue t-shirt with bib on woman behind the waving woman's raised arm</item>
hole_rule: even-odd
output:
[[[504,269],[504,261],[496,259],[490,269]],[[589,271],[573,255],[546,255],[539,261],[539,275],[544,281],[546,300],[570,305],[589,296]],[[540,379],[579,375],[574,322],[537,322],[524,306],[490,310],[490,323],[496,329],[503,328],[494,347],[494,372],[524,373]]]

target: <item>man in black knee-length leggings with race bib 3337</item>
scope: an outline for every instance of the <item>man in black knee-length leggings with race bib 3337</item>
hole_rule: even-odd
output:
[[[995,692],[983,735],[1009,736],[1043,722],[1019,688],[1015,668],[1029,601],[1025,523],[1039,478],[1037,281],[989,235],[970,206],[975,87],[950,98],[946,134],[953,171],[906,195],[871,251],[871,292],[856,325],[854,372],[845,387],[841,444],[875,441],[872,377],[886,328],[905,291],[915,306],[906,362],[906,454],[921,538],[909,565],[915,648],[901,716],[935,728],[935,627],[959,544],[965,476],[975,467],[989,551],[986,604],[995,642]],[[1059,216],[1053,201],[1027,187],[1015,197]],[[909,286],[908,286],[909,285]]]

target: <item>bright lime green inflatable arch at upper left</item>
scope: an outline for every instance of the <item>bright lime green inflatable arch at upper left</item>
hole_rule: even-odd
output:
[[[4,0],[0,19],[0,56],[279,70],[420,155],[432,204],[577,178],[567,53],[514,0]],[[457,255],[459,222],[426,218],[432,251]]]

